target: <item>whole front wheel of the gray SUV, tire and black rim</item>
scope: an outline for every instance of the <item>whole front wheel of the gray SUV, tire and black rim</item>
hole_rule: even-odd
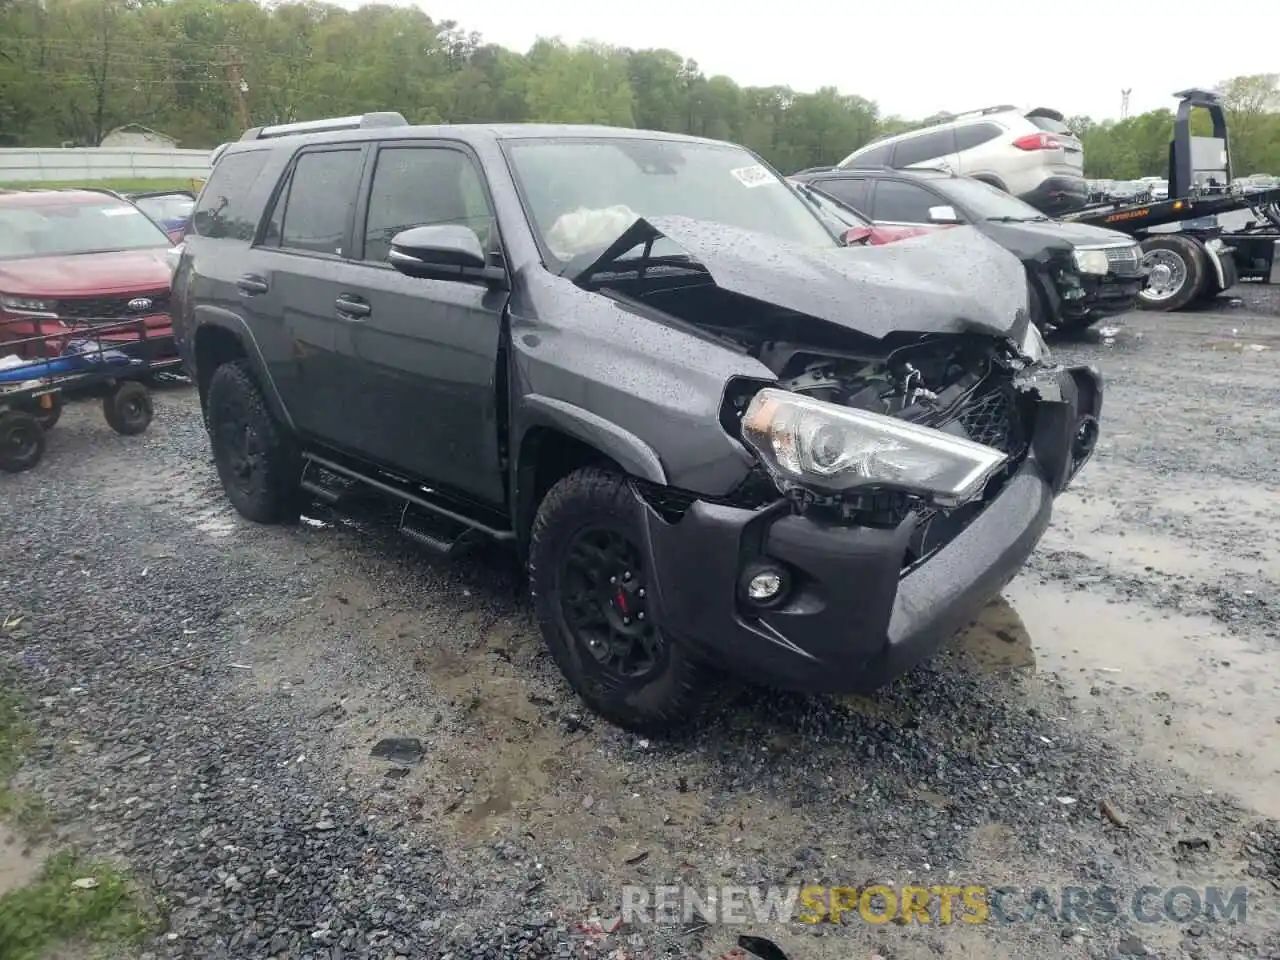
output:
[[[576,470],[538,509],[529,582],[543,639],[584,703],[620,727],[660,735],[694,719],[718,677],[654,622],[643,541],[626,477]]]

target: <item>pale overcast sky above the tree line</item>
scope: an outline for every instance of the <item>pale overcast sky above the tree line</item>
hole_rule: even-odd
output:
[[[1142,113],[1172,106],[1178,90],[1280,69],[1275,44],[1261,41],[1280,36],[1280,0],[1219,23],[1229,6],[1206,0],[836,0],[796,4],[785,19],[788,5],[767,0],[392,3],[520,51],[556,36],[669,47],[744,86],[835,86],[904,116],[1005,102],[1119,116],[1125,87]],[[1221,42],[1207,42],[1213,32]]]

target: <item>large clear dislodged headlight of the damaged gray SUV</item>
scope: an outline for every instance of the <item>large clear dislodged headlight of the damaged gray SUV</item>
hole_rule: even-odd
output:
[[[773,388],[755,394],[742,417],[742,439],[780,488],[891,486],[941,506],[973,499],[1007,460],[941,430]]]

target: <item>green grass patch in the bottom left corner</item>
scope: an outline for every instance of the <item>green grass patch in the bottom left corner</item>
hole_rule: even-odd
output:
[[[72,886],[90,877],[97,881],[91,890]],[[32,883],[0,897],[0,960],[41,960],[68,943],[134,945],[150,927],[123,873],[61,852],[45,861]]]

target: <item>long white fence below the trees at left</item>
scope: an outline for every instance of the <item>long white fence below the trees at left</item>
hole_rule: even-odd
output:
[[[209,154],[164,147],[0,150],[0,183],[202,179],[209,175]]]

